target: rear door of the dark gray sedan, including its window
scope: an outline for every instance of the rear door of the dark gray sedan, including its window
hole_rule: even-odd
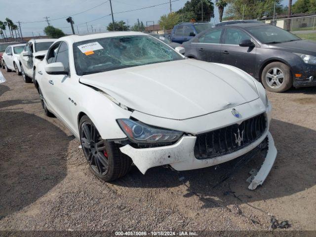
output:
[[[221,62],[221,36],[223,29],[212,29],[199,36],[192,45],[195,45],[197,59],[206,62]]]

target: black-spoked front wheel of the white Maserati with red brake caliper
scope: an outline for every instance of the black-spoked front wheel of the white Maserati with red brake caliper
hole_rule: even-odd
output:
[[[84,156],[91,171],[99,179],[113,181],[130,171],[131,158],[120,152],[118,144],[103,140],[89,117],[80,119],[79,133]]]

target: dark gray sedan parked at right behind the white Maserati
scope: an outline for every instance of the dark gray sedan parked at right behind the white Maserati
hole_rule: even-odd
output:
[[[185,56],[235,66],[270,91],[316,86],[316,42],[272,25],[215,27],[184,42]]]

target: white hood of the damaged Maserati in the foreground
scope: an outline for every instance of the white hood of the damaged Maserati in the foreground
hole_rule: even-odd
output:
[[[79,81],[133,110],[186,119],[259,98],[254,81],[242,73],[227,65],[186,59],[85,75]]]

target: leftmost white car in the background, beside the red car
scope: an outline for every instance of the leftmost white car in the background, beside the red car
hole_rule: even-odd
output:
[[[20,53],[23,51],[25,43],[9,45],[2,55],[2,64],[6,72],[11,72],[12,70],[21,75],[20,67]]]

